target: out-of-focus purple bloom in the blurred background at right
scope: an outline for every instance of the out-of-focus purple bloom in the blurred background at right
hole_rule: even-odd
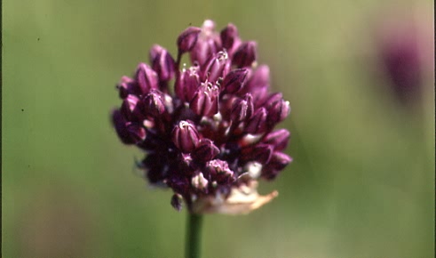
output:
[[[422,98],[434,71],[434,28],[424,17],[385,14],[377,22],[377,75],[394,98],[408,107]]]

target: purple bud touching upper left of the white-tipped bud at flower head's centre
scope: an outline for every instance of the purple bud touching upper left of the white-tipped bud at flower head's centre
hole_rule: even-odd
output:
[[[200,77],[197,69],[185,69],[182,71],[174,86],[174,91],[181,101],[189,102],[200,85]]]

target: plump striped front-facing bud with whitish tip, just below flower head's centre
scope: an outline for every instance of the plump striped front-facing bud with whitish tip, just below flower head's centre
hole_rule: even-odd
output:
[[[190,120],[180,121],[172,130],[172,142],[184,153],[193,151],[199,138],[197,129]]]

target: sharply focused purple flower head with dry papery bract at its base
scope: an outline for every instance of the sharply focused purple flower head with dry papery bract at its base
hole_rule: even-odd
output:
[[[211,20],[186,28],[174,60],[160,45],[150,65],[117,88],[123,99],[112,114],[116,133],[147,156],[140,162],[150,183],[174,191],[171,205],[185,201],[191,213],[246,213],[268,202],[258,178],[271,180],[291,161],[282,151],[289,115],[281,93],[269,93],[269,69],[256,62],[257,44],[242,41],[237,28],[220,33]],[[180,68],[188,53],[191,67]],[[170,88],[170,84],[174,84]]]

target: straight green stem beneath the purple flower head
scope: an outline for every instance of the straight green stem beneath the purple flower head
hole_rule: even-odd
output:
[[[200,258],[202,244],[202,215],[188,214],[186,224],[186,258]]]

